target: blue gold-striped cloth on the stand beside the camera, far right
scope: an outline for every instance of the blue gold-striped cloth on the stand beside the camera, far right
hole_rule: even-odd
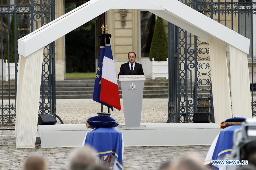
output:
[[[240,129],[241,125],[229,126],[220,131],[214,152],[212,155],[212,160],[217,160],[218,157],[226,154],[230,154],[233,147],[233,134],[235,129]],[[214,169],[219,169],[217,165],[212,166]]]

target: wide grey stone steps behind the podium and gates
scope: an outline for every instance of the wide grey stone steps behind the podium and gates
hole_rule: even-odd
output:
[[[2,85],[2,82],[0,81]],[[118,81],[118,84],[119,81]],[[122,98],[121,85],[118,85],[119,94]],[[89,80],[63,80],[56,81],[56,99],[69,98],[92,98],[94,89],[94,79]],[[188,86],[188,97],[193,97],[191,87]],[[203,87],[201,87],[203,89]],[[207,94],[208,91],[201,91],[200,94]],[[192,96],[191,96],[192,94]],[[256,98],[256,91],[253,92]],[[2,89],[0,89],[0,98],[2,98]],[[9,83],[3,81],[3,98],[9,98]],[[146,79],[144,82],[143,98],[168,98],[168,80],[166,79]],[[10,99],[15,99],[15,82],[10,81]]]

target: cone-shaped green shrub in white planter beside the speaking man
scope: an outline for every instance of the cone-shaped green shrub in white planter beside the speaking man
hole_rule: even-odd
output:
[[[164,21],[158,16],[151,42],[149,59],[152,61],[152,79],[156,77],[168,79],[168,41]]]

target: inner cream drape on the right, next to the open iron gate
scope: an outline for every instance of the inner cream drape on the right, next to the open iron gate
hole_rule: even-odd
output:
[[[212,97],[216,124],[232,117],[226,47],[227,43],[224,41],[209,36]]]

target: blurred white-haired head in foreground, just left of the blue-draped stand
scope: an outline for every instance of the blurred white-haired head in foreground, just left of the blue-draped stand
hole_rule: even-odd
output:
[[[88,147],[80,147],[75,150],[71,158],[71,170],[85,170],[96,165],[95,151]]]

